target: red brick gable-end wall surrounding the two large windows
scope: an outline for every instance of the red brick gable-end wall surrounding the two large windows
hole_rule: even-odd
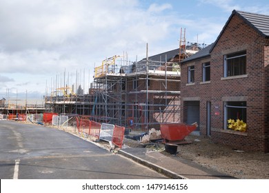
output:
[[[223,96],[244,96],[247,102],[247,136],[212,132],[212,138],[218,141],[229,141],[238,148],[265,149],[265,89],[266,74],[264,69],[263,47],[265,39],[250,28],[237,15],[232,17],[217,45],[212,50],[212,105],[219,103],[220,115],[212,114],[212,128],[223,130]],[[223,54],[246,50],[246,73],[248,77],[241,79],[221,80],[223,77]],[[223,89],[224,88],[224,89]],[[223,123],[223,121],[221,121]],[[231,140],[233,139],[233,140]]]

